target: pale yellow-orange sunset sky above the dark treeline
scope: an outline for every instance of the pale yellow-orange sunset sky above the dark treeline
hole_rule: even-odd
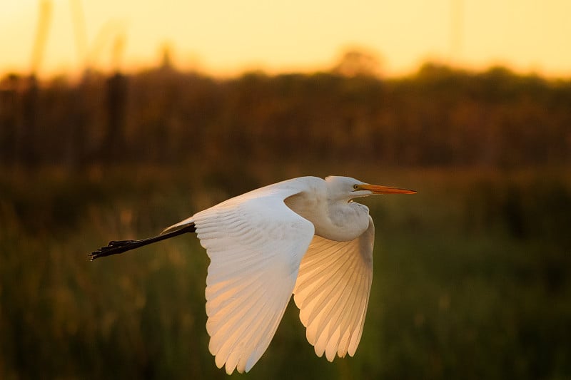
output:
[[[51,0],[41,74],[81,68],[74,1],[84,10],[84,49],[104,70],[123,35],[123,68],[155,65],[165,43],[179,68],[223,75],[327,68],[343,48],[362,46],[388,75],[433,59],[571,76],[570,0]],[[0,0],[0,73],[29,71],[40,2]]]

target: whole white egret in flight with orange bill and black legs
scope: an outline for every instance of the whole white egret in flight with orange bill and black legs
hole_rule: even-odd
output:
[[[197,212],[145,240],[110,242],[91,260],[196,232],[211,262],[206,277],[208,349],[231,374],[268,348],[294,294],[315,354],[353,356],[373,279],[375,227],[353,198],[413,194],[347,177],[301,177]]]

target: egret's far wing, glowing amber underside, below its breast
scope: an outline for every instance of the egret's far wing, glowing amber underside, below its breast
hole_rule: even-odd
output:
[[[295,304],[315,354],[335,359],[355,354],[373,281],[375,226],[350,242],[315,236],[301,260]]]

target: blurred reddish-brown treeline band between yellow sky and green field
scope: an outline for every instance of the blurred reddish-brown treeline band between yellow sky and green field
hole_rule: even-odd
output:
[[[369,160],[517,168],[571,163],[571,81],[425,64],[216,79],[158,68],[80,83],[6,76],[0,163]]]

